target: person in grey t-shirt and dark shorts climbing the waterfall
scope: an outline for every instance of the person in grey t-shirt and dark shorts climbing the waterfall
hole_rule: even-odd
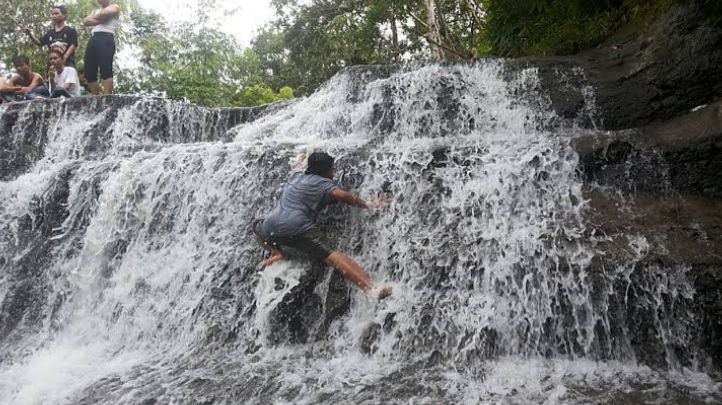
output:
[[[256,221],[253,226],[256,240],[271,253],[261,265],[268,266],[283,260],[285,247],[297,249],[312,258],[324,260],[370,296],[374,285],[369,276],[353,259],[336,250],[316,225],[319,212],[336,201],[371,208],[361,197],[338,186],[333,180],[335,170],[333,157],[324,152],[314,152],[308,157],[306,171],[291,176],[271,214],[264,220]],[[382,200],[380,204],[385,202]],[[378,291],[379,299],[389,295],[390,286]]]

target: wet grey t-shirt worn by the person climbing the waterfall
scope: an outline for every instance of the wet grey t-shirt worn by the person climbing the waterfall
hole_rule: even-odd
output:
[[[281,199],[263,221],[267,237],[293,237],[316,226],[318,213],[334,202],[335,181],[315,174],[294,173],[283,187]]]

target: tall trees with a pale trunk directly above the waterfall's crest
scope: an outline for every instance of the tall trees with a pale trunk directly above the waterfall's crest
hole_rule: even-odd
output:
[[[480,0],[275,0],[253,42],[270,76],[314,91],[339,70],[488,52]]]

